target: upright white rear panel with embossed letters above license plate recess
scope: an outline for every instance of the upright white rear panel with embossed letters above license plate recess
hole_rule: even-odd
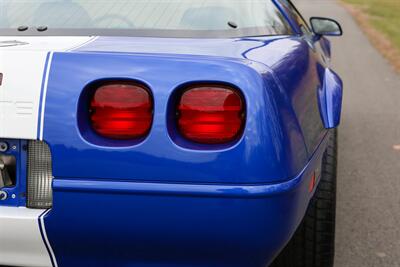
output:
[[[0,50],[0,137],[36,139],[45,51]]]

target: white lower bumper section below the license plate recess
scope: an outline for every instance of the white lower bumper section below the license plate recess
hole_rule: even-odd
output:
[[[0,206],[0,265],[52,267],[39,228],[43,212]]]

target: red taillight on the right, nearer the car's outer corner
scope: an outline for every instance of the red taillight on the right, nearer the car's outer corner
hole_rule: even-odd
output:
[[[220,144],[235,140],[244,125],[244,103],[237,90],[198,86],[185,91],[178,103],[178,127],[192,141]]]

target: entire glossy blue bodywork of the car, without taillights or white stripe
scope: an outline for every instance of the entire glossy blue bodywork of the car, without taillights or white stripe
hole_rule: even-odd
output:
[[[285,4],[276,5],[295,34],[97,37],[49,52],[37,139],[50,147],[55,177],[53,207],[38,218],[51,265],[271,263],[313,196],[310,184],[321,169],[328,129],[339,124],[342,97],[329,41],[302,33]],[[154,119],[143,140],[112,141],[90,128],[88,90],[106,80],[150,88]],[[177,95],[204,82],[243,94],[240,139],[196,144],[177,130]],[[22,150],[25,141],[15,139],[24,138],[8,138],[2,140]],[[0,208],[24,205],[8,201]]]

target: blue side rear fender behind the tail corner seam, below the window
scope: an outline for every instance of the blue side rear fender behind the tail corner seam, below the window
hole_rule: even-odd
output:
[[[268,42],[247,54],[248,58],[270,67],[293,109],[311,156],[326,134],[320,110],[319,91],[324,84],[327,62],[302,37]]]

